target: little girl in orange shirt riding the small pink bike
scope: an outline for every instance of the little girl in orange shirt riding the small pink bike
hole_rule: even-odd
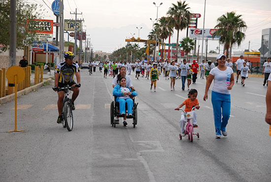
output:
[[[192,111],[192,108],[196,107],[196,109],[200,109],[199,106],[199,101],[197,99],[198,96],[198,91],[196,89],[191,89],[188,92],[188,99],[186,99],[180,106],[178,106],[178,108],[176,108],[176,110],[179,110],[181,107],[183,107],[185,105],[185,112],[190,112]],[[193,127],[197,128],[197,113],[195,110],[192,111],[193,112]],[[181,120],[180,120],[180,127],[181,127],[181,135],[184,137],[185,136],[185,130],[184,130],[184,126],[186,123],[186,119],[184,118],[184,115],[182,113],[181,115]]]

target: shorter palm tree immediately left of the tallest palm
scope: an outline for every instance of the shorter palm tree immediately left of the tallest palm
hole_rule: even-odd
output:
[[[159,23],[155,23],[155,29],[157,30],[157,35],[162,39],[164,43],[165,39],[167,39],[173,33],[173,27],[170,25],[169,18],[162,17],[159,20]],[[161,57],[164,57],[164,48],[162,49]]]

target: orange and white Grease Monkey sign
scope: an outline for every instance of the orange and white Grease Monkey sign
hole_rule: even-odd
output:
[[[53,20],[27,20],[28,32],[35,32],[35,41],[53,41]]]

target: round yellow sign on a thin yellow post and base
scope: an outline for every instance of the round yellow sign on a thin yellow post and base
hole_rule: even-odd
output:
[[[25,71],[19,66],[12,66],[6,71],[6,78],[9,86],[15,86],[15,129],[6,132],[25,132],[25,130],[17,130],[17,84],[25,79]]]

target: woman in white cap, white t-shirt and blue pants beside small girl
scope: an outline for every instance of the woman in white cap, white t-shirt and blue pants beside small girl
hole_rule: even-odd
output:
[[[212,89],[212,105],[214,114],[214,125],[216,138],[221,138],[221,133],[223,136],[227,136],[226,126],[230,118],[231,113],[231,89],[234,86],[234,72],[230,67],[225,66],[226,56],[224,54],[219,54],[217,56],[218,66],[213,68],[210,73],[205,87],[205,95],[203,100],[206,101],[208,98],[208,90],[212,81],[214,80],[214,85]],[[221,119],[221,109],[222,109],[222,119]]]

